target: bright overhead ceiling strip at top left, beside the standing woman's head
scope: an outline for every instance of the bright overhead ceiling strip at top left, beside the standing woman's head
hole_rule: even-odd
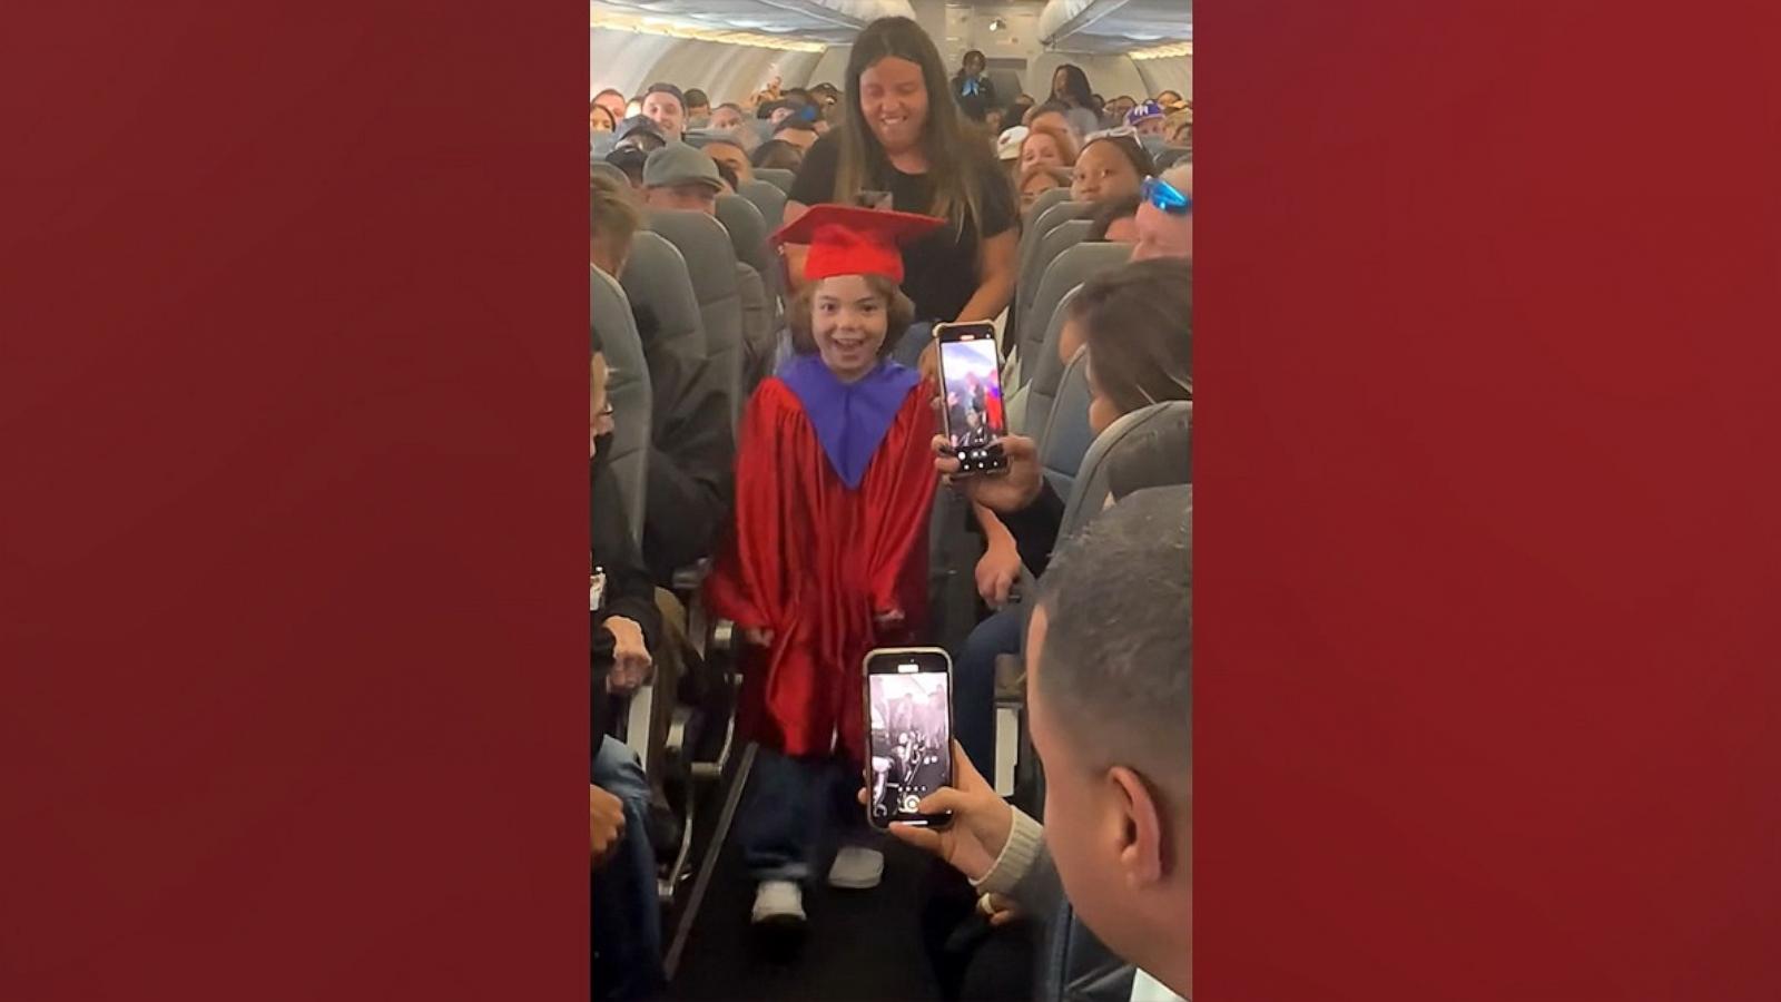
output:
[[[590,0],[593,27],[663,21],[709,32],[753,32],[787,41],[848,45],[874,18],[914,18],[908,0]]]

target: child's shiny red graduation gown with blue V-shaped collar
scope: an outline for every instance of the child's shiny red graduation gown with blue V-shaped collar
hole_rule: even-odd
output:
[[[866,653],[910,644],[926,619],[931,396],[901,365],[844,387],[798,357],[750,399],[736,521],[707,581],[718,615],[773,631],[741,649],[744,740],[864,761]],[[885,612],[903,626],[876,628]]]

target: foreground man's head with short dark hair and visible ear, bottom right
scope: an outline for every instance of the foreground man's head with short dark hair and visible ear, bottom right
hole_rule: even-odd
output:
[[[1028,724],[1063,893],[1118,957],[1193,990],[1193,494],[1140,490],[1065,542],[1028,628]]]

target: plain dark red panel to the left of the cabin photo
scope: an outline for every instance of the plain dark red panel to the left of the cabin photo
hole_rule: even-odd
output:
[[[586,998],[586,12],[0,30],[0,997]]]

